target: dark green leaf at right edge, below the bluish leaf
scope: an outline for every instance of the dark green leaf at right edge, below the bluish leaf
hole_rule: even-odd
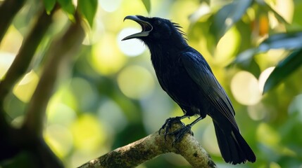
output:
[[[279,62],[270,73],[268,80],[265,81],[263,94],[268,92],[273,87],[277,86],[282,80],[287,78],[302,64],[302,49],[292,52],[288,57]]]

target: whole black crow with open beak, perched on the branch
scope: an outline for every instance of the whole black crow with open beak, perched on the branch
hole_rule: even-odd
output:
[[[169,118],[162,129],[175,121],[189,116],[199,116],[193,123],[184,126],[174,134],[180,141],[191,126],[210,116],[213,119],[220,152],[225,162],[238,164],[255,162],[256,156],[239,132],[235,112],[227,93],[213,75],[206,59],[191,48],[180,26],[163,18],[146,18],[130,15],[125,20],[134,20],[142,31],[123,40],[138,38],[151,52],[151,61],[161,87],[184,111],[184,116]]]

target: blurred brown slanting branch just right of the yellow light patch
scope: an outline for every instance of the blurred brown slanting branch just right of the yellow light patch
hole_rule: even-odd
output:
[[[46,55],[49,60],[44,66],[41,79],[28,105],[23,127],[38,137],[42,136],[46,106],[54,91],[60,67],[67,65],[69,58],[76,55],[84,39],[82,20],[77,13],[75,19],[75,23],[70,25],[65,34],[51,43]]]

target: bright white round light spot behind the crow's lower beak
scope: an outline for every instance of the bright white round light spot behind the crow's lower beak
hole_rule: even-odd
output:
[[[134,38],[127,41],[122,41],[122,38],[125,38],[126,36],[137,33],[139,31],[141,30],[135,28],[125,28],[122,29],[122,31],[120,31],[120,33],[118,34],[118,46],[125,55],[134,57],[140,55],[142,52],[144,52],[144,50],[146,50],[144,43],[142,43],[138,39]]]

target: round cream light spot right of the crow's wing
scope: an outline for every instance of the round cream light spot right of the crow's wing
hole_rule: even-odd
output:
[[[248,71],[239,71],[234,75],[231,90],[237,102],[244,105],[257,104],[261,99],[258,80]]]

